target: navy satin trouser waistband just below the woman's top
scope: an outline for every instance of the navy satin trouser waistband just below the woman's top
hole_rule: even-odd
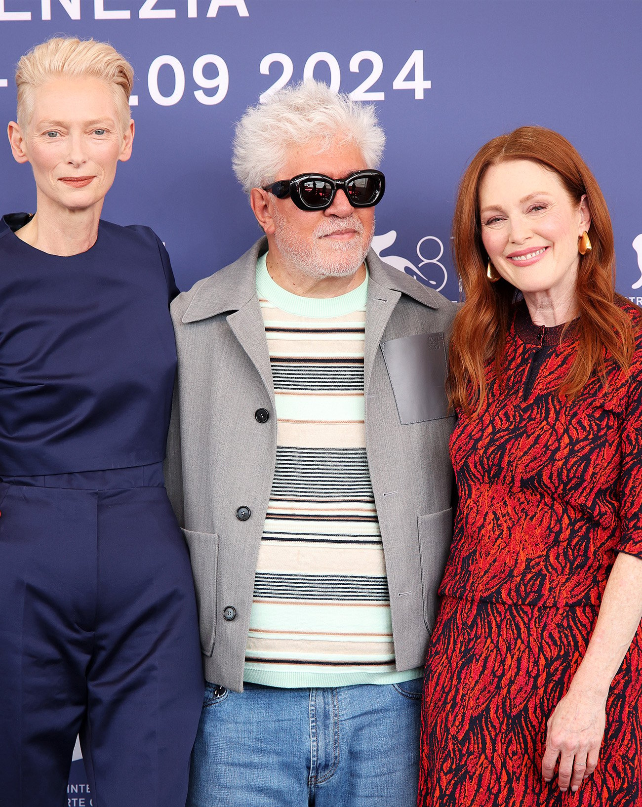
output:
[[[27,487],[65,487],[80,491],[114,491],[127,487],[163,487],[163,463],[137,465],[131,468],[81,470],[73,474],[40,476],[0,476],[0,481]]]

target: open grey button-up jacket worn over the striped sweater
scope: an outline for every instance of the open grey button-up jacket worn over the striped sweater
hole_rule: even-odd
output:
[[[266,249],[259,240],[172,304],[178,377],[167,488],[190,548],[205,677],[237,692],[277,448],[255,287]],[[444,378],[456,306],[372,250],[366,260],[366,451],[403,671],[423,666],[452,533]],[[262,423],[260,408],[269,412]]]

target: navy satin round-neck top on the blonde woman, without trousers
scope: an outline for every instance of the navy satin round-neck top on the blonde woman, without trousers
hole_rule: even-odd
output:
[[[165,458],[176,372],[169,256],[147,227],[101,221],[60,257],[0,221],[0,475]]]

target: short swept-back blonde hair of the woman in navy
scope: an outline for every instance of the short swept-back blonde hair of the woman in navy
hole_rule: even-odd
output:
[[[98,78],[109,85],[124,132],[131,119],[129,96],[134,84],[133,67],[110,44],[73,37],[52,37],[35,45],[18,62],[15,84],[20,126],[28,126],[31,122],[33,90],[57,77]]]

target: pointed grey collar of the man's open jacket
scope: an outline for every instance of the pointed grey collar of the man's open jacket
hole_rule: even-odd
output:
[[[202,280],[182,317],[183,322],[198,322],[224,312],[240,311],[256,296],[256,261],[267,252],[268,240],[262,237],[237,261]],[[368,299],[396,291],[423,303],[440,307],[440,295],[407,274],[388,266],[372,249],[365,259],[369,270]],[[398,299],[399,295],[396,296]]]

